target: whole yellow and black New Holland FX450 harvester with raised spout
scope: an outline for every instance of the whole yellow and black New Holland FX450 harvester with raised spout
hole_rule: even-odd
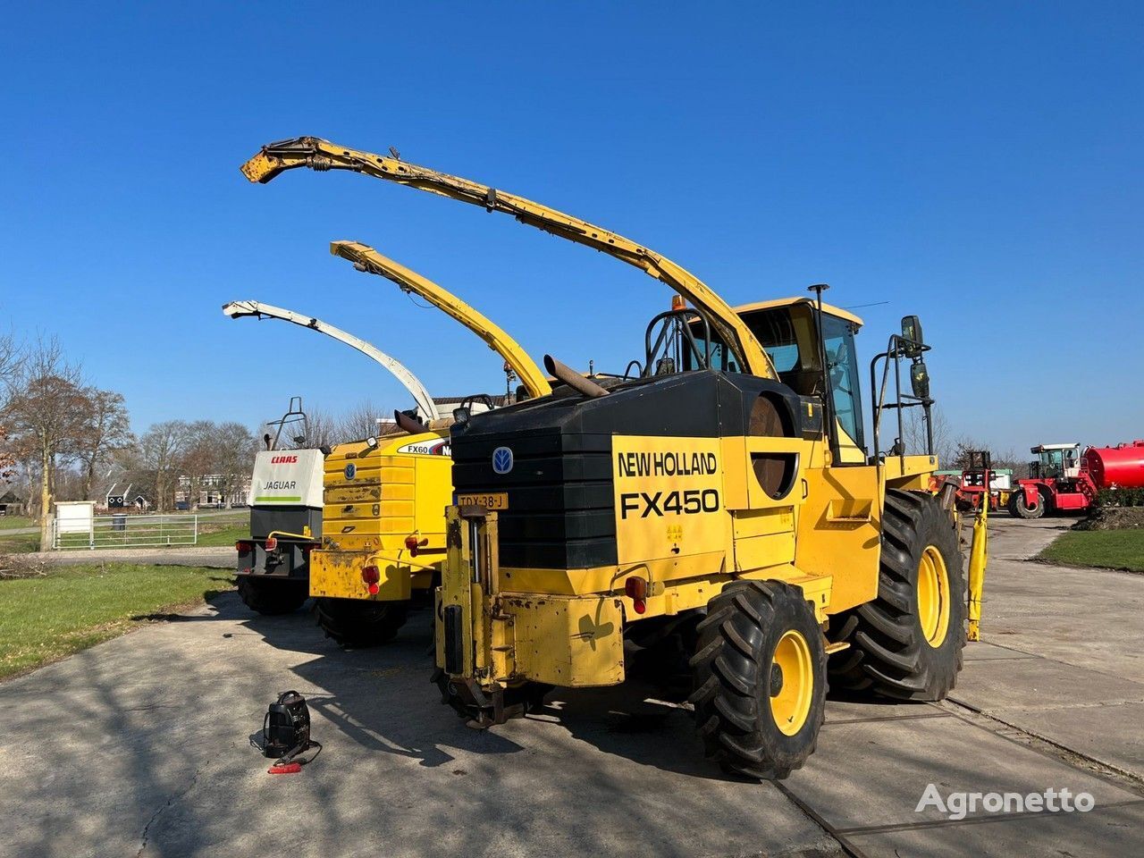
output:
[[[551,686],[623,682],[628,650],[672,639],[690,656],[708,754],[730,771],[780,778],[815,748],[828,675],[836,688],[907,700],[953,688],[967,607],[977,635],[984,522],[967,599],[952,492],[925,491],[932,448],[880,444],[888,410],[898,438],[905,408],[929,422],[916,317],[871,364],[867,445],[861,323],[823,303],[823,286],[811,287],[817,300],[732,309],[680,265],[594,224],[315,137],[270,144],[243,169],[268,182],[303,166],[510,214],[690,302],[652,320],[630,378],[597,383],[548,362],[564,382],[551,396],[458,415],[437,590],[445,702],[500,723],[540,706]]]

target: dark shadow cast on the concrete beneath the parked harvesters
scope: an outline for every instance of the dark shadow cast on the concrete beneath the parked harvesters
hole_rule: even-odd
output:
[[[209,617],[193,619],[238,619],[244,629],[271,646],[313,657],[293,667],[291,675],[315,715],[315,737],[327,747],[356,746],[415,758],[434,768],[454,760],[448,748],[515,754],[525,750],[527,744],[542,745],[545,731],[561,730],[638,765],[701,779],[741,781],[705,757],[690,708],[678,702],[682,696],[666,694],[641,673],[633,673],[623,684],[612,688],[555,689],[543,708],[523,723],[478,730],[440,704],[440,694],[429,680],[434,666],[428,611],[414,611],[389,644],[349,650],[326,638],[308,610],[262,617],[237,597],[220,599],[215,609]],[[283,688],[277,690],[286,690],[289,682],[289,677],[283,677]],[[845,692],[832,692],[828,702],[884,706],[887,712],[901,705]],[[328,734],[331,728],[334,737]],[[526,738],[526,745],[519,744]]]

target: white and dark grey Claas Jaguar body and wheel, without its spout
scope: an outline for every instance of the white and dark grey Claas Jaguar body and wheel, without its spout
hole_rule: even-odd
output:
[[[321,539],[324,453],[305,446],[309,422],[300,396],[267,429],[251,476],[251,535],[235,543],[236,578],[247,607],[278,614],[297,610],[309,595],[310,551]]]

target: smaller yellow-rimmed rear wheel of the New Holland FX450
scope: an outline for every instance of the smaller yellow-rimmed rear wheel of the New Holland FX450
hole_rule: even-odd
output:
[[[785,778],[813,753],[826,704],[810,603],[780,581],[732,581],[697,631],[690,699],[707,755],[736,774]]]

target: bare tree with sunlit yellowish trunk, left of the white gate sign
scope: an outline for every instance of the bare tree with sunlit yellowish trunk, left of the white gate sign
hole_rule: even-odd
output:
[[[49,543],[55,468],[76,454],[88,412],[80,368],[64,358],[55,337],[39,340],[9,379],[5,414],[17,451],[40,471],[40,540]]]

